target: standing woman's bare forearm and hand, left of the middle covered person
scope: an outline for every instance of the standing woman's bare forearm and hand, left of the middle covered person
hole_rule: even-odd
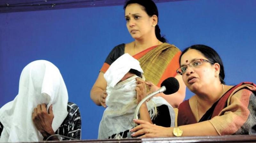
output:
[[[100,72],[91,89],[91,99],[96,105],[106,107],[106,88],[107,81],[104,79],[104,73]]]

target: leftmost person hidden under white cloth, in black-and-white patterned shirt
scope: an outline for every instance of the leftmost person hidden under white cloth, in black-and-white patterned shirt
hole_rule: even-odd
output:
[[[0,142],[41,142],[55,134],[81,139],[80,111],[68,102],[59,69],[37,60],[22,70],[18,95],[0,109]]]

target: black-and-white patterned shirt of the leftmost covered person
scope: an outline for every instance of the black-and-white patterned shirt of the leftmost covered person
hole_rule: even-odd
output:
[[[79,107],[72,102],[68,102],[68,116],[62,122],[55,134],[67,136],[74,139],[81,139],[81,115]],[[3,131],[3,125],[0,122],[0,137]],[[70,140],[61,138],[61,140]]]

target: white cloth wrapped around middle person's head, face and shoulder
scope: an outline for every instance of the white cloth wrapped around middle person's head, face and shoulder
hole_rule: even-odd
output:
[[[131,78],[119,82],[130,69],[135,69],[143,73],[139,61],[129,54],[124,54],[113,62],[104,74],[104,78],[108,83],[108,96],[106,98],[106,105],[108,107],[105,109],[100,121],[98,139],[107,139],[113,134],[118,135],[120,132],[133,128],[132,119],[138,105],[136,99],[137,93],[135,91],[135,87],[137,86],[136,78],[139,77],[134,75]],[[154,115],[155,105],[161,106],[163,104],[168,106],[173,122],[171,125],[174,126],[175,115],[173,108],[162,97],[154,97],[147,102],[148,110],[152,111],[150,112],[150,117]]]

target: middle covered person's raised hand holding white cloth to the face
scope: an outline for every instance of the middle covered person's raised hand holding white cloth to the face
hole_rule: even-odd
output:
[[[147,88],[146,83],[143,79],[136,78],[137,80],[137,87],[135,87],[135,90],[137,92],[137,103],[139,103],[143,98],[146,97],[147,94]]]

